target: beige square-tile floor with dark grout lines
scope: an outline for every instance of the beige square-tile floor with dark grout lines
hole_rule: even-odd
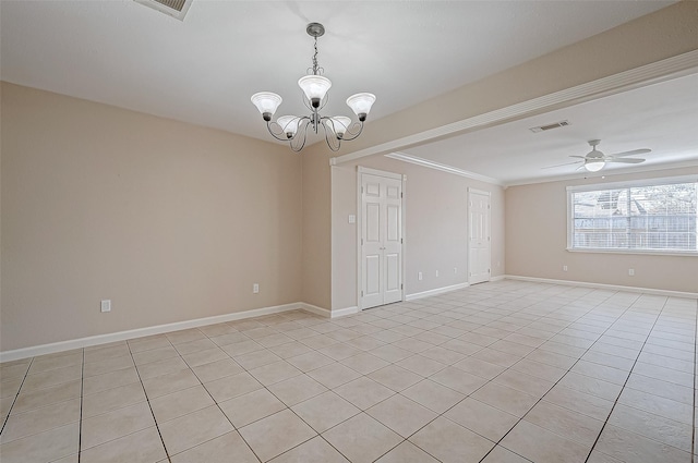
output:
[[[500,281],[0,366],[0,460],[691,462],[697,301]]]

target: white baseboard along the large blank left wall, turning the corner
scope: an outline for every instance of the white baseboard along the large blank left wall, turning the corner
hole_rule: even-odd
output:
[[[133,330],[118,331],[107,334],[91,336],[87,338],[72,339],[69,341],[51,342],[49,344],[34,345],[0,352],[0,363],[33,357],[36,355],[53,354],[56,352],[70,351],[72,349],[89,348],[92,345],[107,344],[109,342],[127,339],[143,338],[145,336],[161,334],[164,332],[178,331],[188,328],[197,328],[206,325],[222,324],[225,321],[241,320],[244,318],[260,317],[262,315],[279,314],[281,312],[303,309],[313,314],[329,317],[329,310],[302,302],[275,305],[270,307],[253,308],[251,310],[233,312],[231,314],[216,315],[213,317],[195,318],[193,320],[177,321],[173,324],[157,325],[154,327],[136,328]]]

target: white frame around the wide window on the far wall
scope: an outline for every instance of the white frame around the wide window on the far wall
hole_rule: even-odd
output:
[[[574,214],[573,194],[580,192],[593,192],[601,190],[625,190],[637,186],[653,185],[671,185],[676,183],[698,183],[698,174],[667,176],[655,179],[630,180],[626,182],[609,182],[593,183],[585,185],[567,186],[567,251],[570,253],[599,253],[599,254],[642,254],[642,255],[661,255],[661,256],[688,256],[698,257],[698,247],[696,251],[672,251],[672,249],[639,249],[639,248],[621,248],[621,247],[574,247]],[[698,193],[697,193],[698,194]]]

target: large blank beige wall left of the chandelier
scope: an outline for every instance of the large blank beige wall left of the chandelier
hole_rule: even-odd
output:
[[[1,110],[0,350],[301,300],[285,146],[7,83]]]

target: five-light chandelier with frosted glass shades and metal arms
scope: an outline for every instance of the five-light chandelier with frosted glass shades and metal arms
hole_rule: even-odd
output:
[[[313,66],[308,69],[308,75],[298,81],[305,98],[303,102],[310,110],[310,115],[281,115],[276,121],[272,117],[281,105],[281,97],[270,92],[260,92],[252,95],[252,102],[266,121],[269,133],[282,142],[289,142],[293,151],[300,151],[305,146],[308,129],[318,133],[320,127],[325,133],[327,146],[333,151],[339,149],[342,141],[352,141],[361,135],[363,123],[375,101],[373,94],[356,94],[347,98],[347,105],[357,114],[358,121],[346,115],[321,115],[320,111],[327,103],[327,90],[332,87],[329,78],[323,76],[324,70],[317,65],[317,37],[325,34],[325,27],[320,23],[310,23],[305,32],[315,39]]]

